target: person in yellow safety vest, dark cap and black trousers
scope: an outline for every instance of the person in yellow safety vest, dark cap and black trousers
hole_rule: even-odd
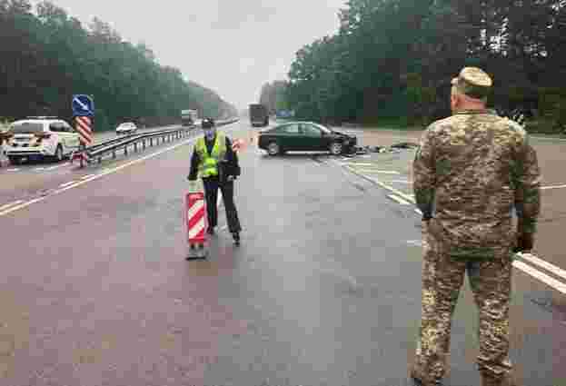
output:
[[[213,119],[204,118],[202,126],[204,137],[199,138],[194,144],[188,180],[195,181],[197,177],[203,179],[209,234],[214,233],[214,227],[218,223],[216,205],[220,188],[228,229],[233,235],[235,244],[240,245],[242,227],[233,202],[233,182],[241,173],[238,156],[233,151],[232,141],[226,135],[216,132]]]

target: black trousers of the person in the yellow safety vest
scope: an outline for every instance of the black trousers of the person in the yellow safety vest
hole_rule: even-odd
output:
[[[236,205],[233,203],[233,181],[220,183],[218,177],[208,177],[203,178],[203,182],[208,226],[214,227],[218,225],[218,208],[216,207],[216,202],[218,200],[218,189],[220,188],[230,233],[239,233],[242,231],[242,226],[240,226],[240,220],[238,219],[238,211],[236,211]]]

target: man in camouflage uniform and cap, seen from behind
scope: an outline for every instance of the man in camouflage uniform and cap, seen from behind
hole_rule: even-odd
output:
[[[491,87],[481,69],[462,69],[452,79],[452,116],[426,129],[413,162],[424,253],[422,322],[411,376],[425,386],[440,384],[446,371],[452,314],[466,271],[480,311],[482,385],[514,385],[508,358],[511,253],[532,248],[540,172],[521,125],[486,109]]]

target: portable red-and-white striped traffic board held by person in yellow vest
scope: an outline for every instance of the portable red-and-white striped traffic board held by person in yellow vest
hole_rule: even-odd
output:
[[[191,183],[189,193],[185,196],[185,222],[189,252],[187,260],[205,259],[208,256],[206,247],[206,203],[204,201],[203,183]]]

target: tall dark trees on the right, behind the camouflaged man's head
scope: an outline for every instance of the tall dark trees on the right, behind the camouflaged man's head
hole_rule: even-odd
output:
[[[304,45],[285,87],[297,117],[422,125],[450,114],[463,66],[492,75],[490,107],[532,130],[566,124],[566,1],[350,0],[334,35]]]

